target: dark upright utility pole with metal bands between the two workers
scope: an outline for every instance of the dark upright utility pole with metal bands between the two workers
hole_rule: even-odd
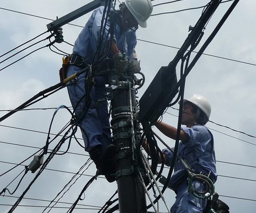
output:
[[[126,75],[111,80],[111,127],[117,148],[116,179],[118,187],[119,212],[147,212],[145,190],[138,176],[140,155],[135,140],[134,113],[136,95],[134,81]]]

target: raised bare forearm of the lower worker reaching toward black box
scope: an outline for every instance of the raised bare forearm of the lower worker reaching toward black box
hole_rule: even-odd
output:
[[[165,124],[164,122],[157,122],[157,124],[155,125],[164,135],[166,135],[167,137],[172,138],[173,140],[176,140],[177,137],[177,128]],[[185,135],[185,133],[183,132],[183,130],[180,130],[180,138],[179,140],[181,140],[182,142],[187,142],[188,141],[188,137]]]

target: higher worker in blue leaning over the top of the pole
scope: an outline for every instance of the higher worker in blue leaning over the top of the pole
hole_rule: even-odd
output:
[[[153,6],[150,0],[124,0],[117,11],[106,10],[104,6],[94,10],[76,39],[69,60],[67,77],[90,67],[91,64],[98,68],[91,87],[85,84],[85,78],[90,72],[88,69],[71,81],[67,88],[78,120],[77,125],[81,128],[85,151],[89,152],[98,173],[105,175],[109,182],[115,181],[115,177],[110,174],[115,170],[112,159],[116,148],[110,136],[105,87],[108,84],[108,76],[101,71],[107,68],[115,69],[117,72],[138,72],[140,70],[135,53],[137,44],[135,31],[138,29],[138,25],[143,28],[147,26],[146,21],[152,10]],[[111,11],[110,17],[106,11]],[[103,22],[105,19],[106,21]],[[99,51],[99,48],[103,49]],[[103,55],[109,49],[110,53]],[[95,63],[97,57],[110,60],[108,63],[100,63],[102,60]],[[89,103],[84,101],[86,95],[90,97]]]

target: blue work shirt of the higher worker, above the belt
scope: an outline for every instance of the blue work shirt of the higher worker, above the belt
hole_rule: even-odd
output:
[[[103,17],[104,6],[94,10],[90,19],[86,22],[85,27],[80,32],[75,41],[73,53],[85,58],[85,61],[92,64],[94,53],[100,40],[101,20]],[[103,43],[110,39],[110,22],[107,21],[106,29],[103,34]],[[128,29],[121,31],[121,28],[115,24],[114,40],[121,53],[125,53],[127,59],[136,58],[135,46],[137,45],[137,37],[135,31]]]

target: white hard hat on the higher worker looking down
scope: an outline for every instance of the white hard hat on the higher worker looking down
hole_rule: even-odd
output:
[[[153,11],[153,5],[150,0],[124,0],[127,9],[132,13],[133,17],[138,21],[139,26],[146,28],[147,20]]]

